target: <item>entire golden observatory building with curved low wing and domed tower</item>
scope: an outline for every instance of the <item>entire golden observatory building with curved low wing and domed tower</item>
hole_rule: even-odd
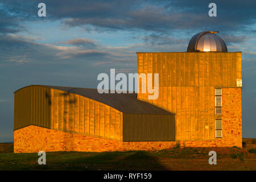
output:
[[[241,52],[218,32],[187,52],[137,52],[138,74],[159,74],[159,97],[30,85],[14,93],[14,152],[242,147]],[[153,81],[154,82],[154,78]]]

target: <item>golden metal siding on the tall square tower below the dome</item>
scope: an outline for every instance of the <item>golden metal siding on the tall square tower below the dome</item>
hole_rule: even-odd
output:
[[[214,88],[236,87],[236,80],[241,78],[241,53],[137,53],[138,56],[146,57],[144,54],[152,55],[152,73],[159,73],[160,88],[158,100],[149,101],[143,96],[146,98],[143,101],[153,102],[176,113],[177,140],[215,139]],[[151,62],[148,61],[148,64]],[[164,71],[163,65],[169,71]],[[143,68],[138,68],[138,73],[142,73],[141,70]],[[140,95],[138,98],[141,98]]]

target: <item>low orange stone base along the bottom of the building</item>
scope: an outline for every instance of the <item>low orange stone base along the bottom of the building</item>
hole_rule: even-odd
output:
[[[53,151],[129,151],[129,150],[163,150],[174,147],[176,142],[120,142],[100,137],[90,137],[81,134],[66,133],[38,126],[27,126],[14,131],[14,152],[53,152]],[[216,139],[211,141],[180,142],[181,147],[233,147],[241,146]]]

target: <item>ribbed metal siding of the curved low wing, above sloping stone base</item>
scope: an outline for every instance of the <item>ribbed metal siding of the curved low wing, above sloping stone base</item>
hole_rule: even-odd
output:
[[[20,89],[15,92],[14,98],[14,130],[36,125],[122,140],[121,111],[100,102],[44,86]]]

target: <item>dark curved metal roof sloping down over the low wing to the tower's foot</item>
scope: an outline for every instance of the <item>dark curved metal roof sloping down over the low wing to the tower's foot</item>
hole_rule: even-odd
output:
[[[33,85],[30,85],[33,86]],[[149,104],[137,99],[137,93],[98,93],[97,89],[89,88],[74,88],[67,86],[51,86],[51,85],[39,85],[46,86],[52,89],[63,90],[65,92],[70,92],[90,98],[92,100],[102,102],[103,104],[109,105],[114,109],[127,114],[167,114],[174,115],[170,111],[164,110],[155,105]],[[18,92],[18,90],[16,91]]]

